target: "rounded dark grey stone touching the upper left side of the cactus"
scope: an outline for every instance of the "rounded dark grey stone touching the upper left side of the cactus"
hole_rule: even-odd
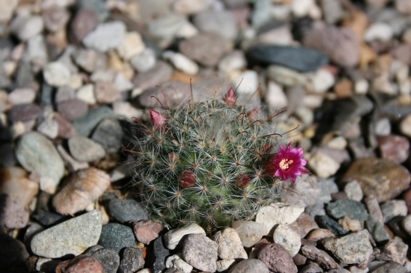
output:
[[[91,138],[99,142],[108,154],[116,153],[123,144],[124,128],[116,118],[103,119]]]

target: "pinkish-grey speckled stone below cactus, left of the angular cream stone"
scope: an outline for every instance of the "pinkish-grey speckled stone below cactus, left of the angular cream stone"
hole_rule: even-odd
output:
[[[193,267],[202,271],[217,270],[216,242],[204,234],[190,234],[183,242],[182,257]]]

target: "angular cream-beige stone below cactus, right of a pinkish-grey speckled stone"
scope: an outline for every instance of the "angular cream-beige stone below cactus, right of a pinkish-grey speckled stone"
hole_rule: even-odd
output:
[[[217,254],[220,259],[247,259],[241,239],[234,228],[227,227],[216,232],[213,240],[218,244]]]

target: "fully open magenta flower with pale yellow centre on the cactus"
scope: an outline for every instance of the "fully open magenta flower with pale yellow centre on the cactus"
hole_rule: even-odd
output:
[[[303,148],[292,148],[290,142],[287,147],[279,145],[279,149],[276,156],[270,158],[266,164],[268,174],[281,180],[291,179],[292,183],[295,183],[297,176],[310,173],[305,167],[307,160],[303,158]]]

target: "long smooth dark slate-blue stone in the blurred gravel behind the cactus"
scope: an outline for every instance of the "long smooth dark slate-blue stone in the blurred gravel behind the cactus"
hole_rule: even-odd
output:
[[[259,45],[248,51],[251,61],[263,65],[279,65],[307,72],[328,64],[328,57],[315,49],[305,47]]]

